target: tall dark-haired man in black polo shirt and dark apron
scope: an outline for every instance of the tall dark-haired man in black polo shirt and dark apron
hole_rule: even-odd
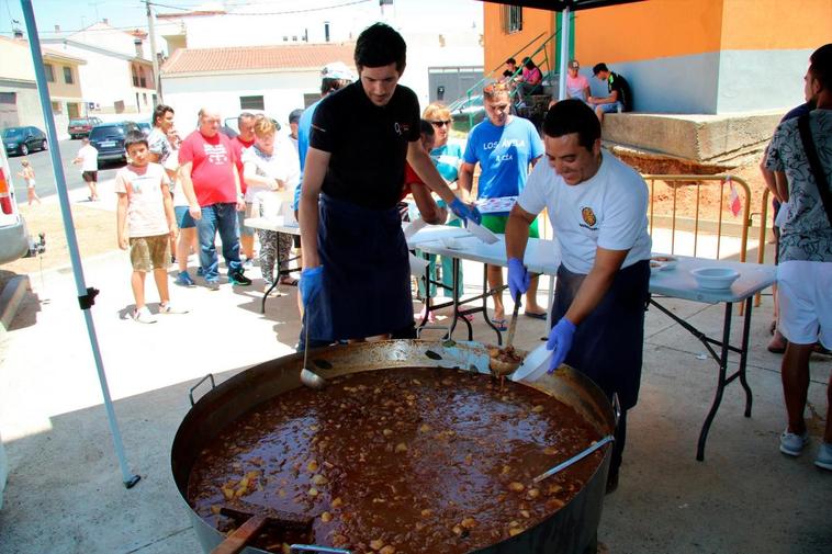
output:
[[[311,347],[415,336],[407,245],[396,203],[405,160],[454,214],[479,218],[419,144],[419,103],[397,86],[406,45],[376,23],[356,43],[359,82],[315,110],[300,202],[301,295]],[[306,342],[302,330],[299,349]]]

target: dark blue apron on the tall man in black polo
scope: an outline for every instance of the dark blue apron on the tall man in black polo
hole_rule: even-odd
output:
[[[319,308],[310,339],[360,339],[413,328],[411,265],[395,207],[369,210],[322,194]],[[328,320],[325,320],[328,319]]]

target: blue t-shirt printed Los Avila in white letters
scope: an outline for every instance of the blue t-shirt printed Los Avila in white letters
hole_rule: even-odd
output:
[[[463,159],[480,162],[477,199],[517,196],[529,172],[529,163],[543,155],[543,142],[529,120],[511,116],[498,127],[490,120],[476,124],[468,136]]]

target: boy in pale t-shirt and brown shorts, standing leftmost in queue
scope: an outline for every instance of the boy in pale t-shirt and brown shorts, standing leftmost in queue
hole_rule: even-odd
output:
[[[145,275],[150,270],[159,291],[159,313],[187,313],[170,305],[168,291],[169,238],[177,235],[170,179],[165,168],[150,162],[147,138],[142,133],[130,133],[124,149],[130,163],[115,176],[119,248],[126,250],[130,247],[131,285],[136,299],[133,319],[153,324],[156,318],[145,304]]]

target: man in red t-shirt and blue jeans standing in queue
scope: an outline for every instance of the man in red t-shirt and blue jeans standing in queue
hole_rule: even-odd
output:
[[[182,190],[200,238],[200,265],[210,289],[220,286],[216,233],[223,242],[223,257],[232,284],[249,285],[243,274],[237,236],[237,211],[245,207],[237,172],[237,152],[228,137],[220,133],[220,112],[200,110],[200,126],[179,148]]]

